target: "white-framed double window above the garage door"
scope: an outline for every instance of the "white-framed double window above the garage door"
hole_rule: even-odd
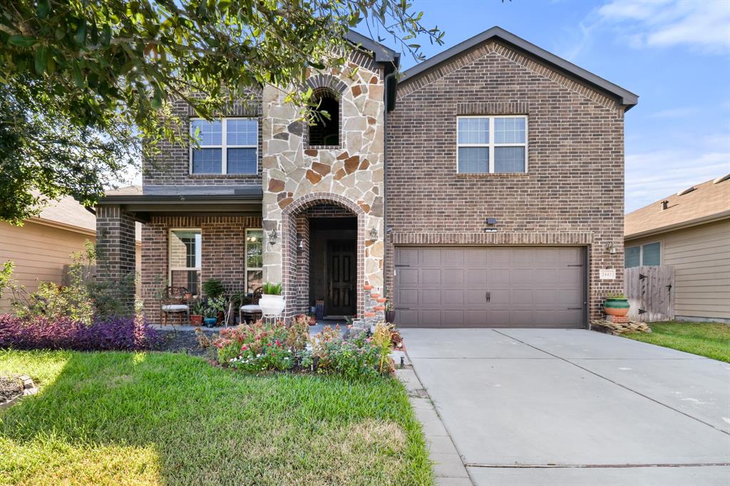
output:
[[[461,173],[527,171],[527,117],[470,116],[457,120]]]

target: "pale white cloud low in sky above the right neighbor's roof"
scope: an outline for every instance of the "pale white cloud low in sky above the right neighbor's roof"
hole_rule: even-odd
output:
[[[728,173],[730,150],[693,153],[667,149],[627,154],[626,212]]]

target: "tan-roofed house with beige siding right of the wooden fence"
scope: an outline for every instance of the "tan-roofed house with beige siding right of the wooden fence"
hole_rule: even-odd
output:
[[[626,268],[674,268],[675,317],[730,323],[730,174],[626,215]]]

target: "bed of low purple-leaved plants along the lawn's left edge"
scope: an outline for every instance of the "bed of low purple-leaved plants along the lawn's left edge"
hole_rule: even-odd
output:
[[[138,317],[96,318],[87,325],[71,317],[0,315],[0,348],[17,350],[145,350],[157,333]]]

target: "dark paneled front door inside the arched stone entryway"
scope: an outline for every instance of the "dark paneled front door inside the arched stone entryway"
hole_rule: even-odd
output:
[[[330,240],[327,243],[326,315],[354,315],[356,312],[355,241]]]

